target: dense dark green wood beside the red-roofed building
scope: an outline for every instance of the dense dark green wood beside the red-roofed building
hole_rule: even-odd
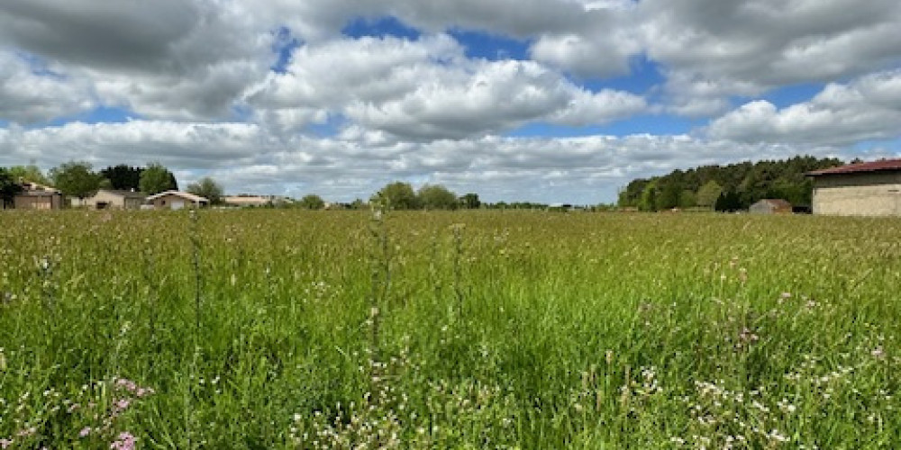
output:
[[[617,205],[641,211],[739,211],[761,199],[782,199],[809,207],[814,184],[805,174],[842,164],[834,157],[799,156],[674,170],[668,175],[633,180],[619,193]]]

